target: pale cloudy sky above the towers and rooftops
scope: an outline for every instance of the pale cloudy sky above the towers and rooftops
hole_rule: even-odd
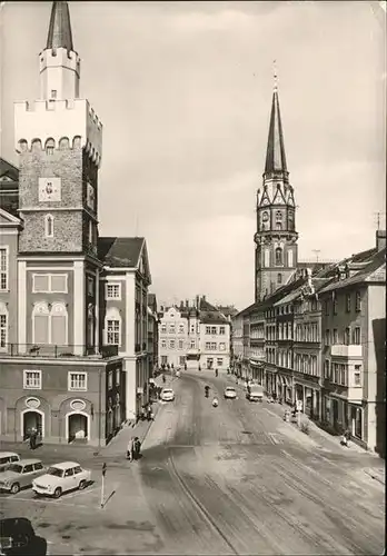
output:
[[[99,232],[146,237],[159,304],[254,301],[275,59],[299,259],[375,245],[386,211],[378,4],[69,2],[81,97],[103,123]],[[0,156],[14,165],[13,102],[39,99],[50,10],[0,12]]]

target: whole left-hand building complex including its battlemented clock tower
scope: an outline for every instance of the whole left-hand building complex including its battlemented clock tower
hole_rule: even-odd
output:
[[[0,162],[0,438],[106,444],[148,401],[158,357],[147,244],[101,237],[102,125],[79,96],[67,2],[16,102],[19,167]]]

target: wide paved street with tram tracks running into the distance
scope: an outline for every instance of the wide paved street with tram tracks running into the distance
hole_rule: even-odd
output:
[[[42,447],[47,463],[78,456],[95,483],[59,500],[2,495],[1,514],[31,519],[52,555],[383,553],[384,485],[365,473],[381,460],[337,438],[316,443],[240,386],[238,399],[224,399],[232,377],[191,371],[170,384],[176,400],[160,404],[139,461],[119,450],[130,429],[98,455]]]

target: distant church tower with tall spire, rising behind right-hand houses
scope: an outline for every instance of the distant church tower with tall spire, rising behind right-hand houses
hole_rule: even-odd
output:
[[[262,178],[262,189],[257,191],[257,232],[254,238],[256,302],[286,284],[297,267],[296,205],[286,163],[277,81]]]

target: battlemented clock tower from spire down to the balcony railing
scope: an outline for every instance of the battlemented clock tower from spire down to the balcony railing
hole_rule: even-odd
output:
[[[80,98],[80,58],[73,48],[66,1],[52,2],[39,69],[40,100],[14,103],[14,141],[20,153],[19,210],[23,221],[19,284],[26,281],[32,294],[31,304],[19,304],[19,342],[66,340],[67,345],[79,346],[81,354],[81,346],[95,348],[98,342],[98,169],[102,125],[88,100]],[[44,272],[30,276],[32,261],[34,267],[41,265]],[[56,267],[61,269],[60,279],[56,278]],[[29,307],[38,310],[33,297],[37,292],[42,304],[39,310],[48,315],[49,322],[58,321],[50,312],[57,302],[54,297],[67,307],[66,334],[64,325],[61,331],[47,327],[40,331],[32,327],[31,331],[29,325],[22,329],[23,320],[31,321]],[[33,315],[31,318],[33,321]]]

